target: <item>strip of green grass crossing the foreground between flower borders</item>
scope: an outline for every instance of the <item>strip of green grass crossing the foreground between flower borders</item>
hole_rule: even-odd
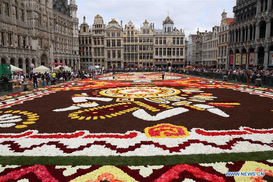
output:
[[[113,165],[113,166],[145,166],[175,165],[181,163],[215,163],[234,161],[256,161],[273,159],[273,151],[190,154],[169,156],[0,156],[2,165]]]

